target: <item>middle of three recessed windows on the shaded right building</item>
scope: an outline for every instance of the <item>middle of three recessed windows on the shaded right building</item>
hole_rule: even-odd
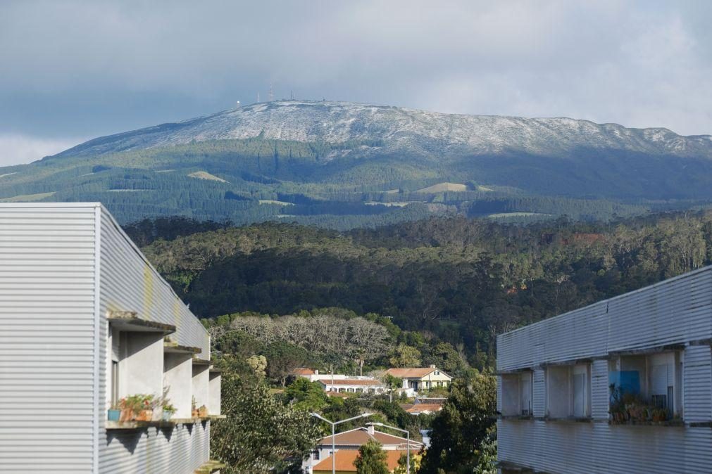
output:
[[[591,370],[588,364],[546,369],[546,414],[551,418],[587,418],[590,411]]]

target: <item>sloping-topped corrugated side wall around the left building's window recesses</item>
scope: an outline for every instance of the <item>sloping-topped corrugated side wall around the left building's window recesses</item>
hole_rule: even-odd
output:
[[[108,311],[136,311],[141,318],[175,325],[177,331],[170,337],[180,345],[201,348],[198,357],[209,359],[210,340],[205,328],[104,208],[101,208],[100,219],[102,360],[106,361]],[[106,364],[102,367],[100,399],[106,402]],[[208,421],[164,430],[107,432],[103,416],[99,430],[99,471],[192,473],[209,459],[209,425]]]

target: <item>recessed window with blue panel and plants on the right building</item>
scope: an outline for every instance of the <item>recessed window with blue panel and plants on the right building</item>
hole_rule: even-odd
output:
[[[609,362],[611,413],[616,421],[651,421],[682,416],[682,362],[680,351],[622,355]],[[625,405],[641,410],[624,409]],[[617,415],[617,413],[622,413]],[[640,419],[639,419],[640,418]]]

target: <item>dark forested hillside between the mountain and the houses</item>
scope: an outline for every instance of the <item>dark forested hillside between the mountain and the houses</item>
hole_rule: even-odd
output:
[[[453,217],[351,232],[191,228],[184,221],[184,232],[171,231],[184,237],[169,241],[153,240],[152,222],[127,230],[201,317],[345,308],[461,343],[472,357],[491,357],[504,330],[712,262],[712,214],[703,212],[609,224]]]

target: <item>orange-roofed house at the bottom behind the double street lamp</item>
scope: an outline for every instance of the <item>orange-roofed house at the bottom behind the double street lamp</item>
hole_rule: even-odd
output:
[[[352,462],[358,456],[358,449],[371,440],[381,443],[382,449],[390,453],[389,458],[393,457],[395,463],[408,447],[411,449],[411,453],[417,453],[423,447],[423,443],[419,441],[410,440],[410,444],[408,444],[407,438],[377,431],[373,426],[367,426],[336,433],[333,441],[332,436],[322,438],[309,458],[303,462],[302,468],[308,474],[318,473],[326,467],[331,472],[332,443],[335,443],[336,463],[342,467],[340,470],[355,472],[356,468],[352,468]]]

